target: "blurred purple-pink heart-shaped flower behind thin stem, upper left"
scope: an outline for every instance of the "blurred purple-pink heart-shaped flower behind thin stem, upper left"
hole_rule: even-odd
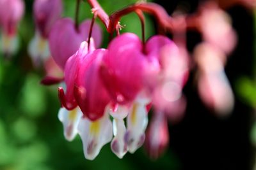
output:
[[[72,19],[62,18],[52,27],[49,34],[50,50],[52,57],[62,69],[65,68],[68,58],[76,53],[80,44],[88,40],[90,23],[90,20],[86,20],[76,29]],[[99,47],[101,30],[96,24],[93,25],[92,38],[96,47]]]

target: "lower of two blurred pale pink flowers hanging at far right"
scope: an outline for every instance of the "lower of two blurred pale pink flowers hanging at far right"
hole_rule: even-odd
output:
[[[198,64],[198,92],[204,103],[220,116],[234,107],[234,94],[224,71],[224,53],[208,43],[195,48]]]

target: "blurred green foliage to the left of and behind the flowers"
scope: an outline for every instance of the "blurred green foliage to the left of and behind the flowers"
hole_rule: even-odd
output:
[[[100,4],[111,13],[134,2],[102,0]],[[57,118],[60,109],[58,86],[40,85],[44,69],[34,69],[28,56],[27,46],[34,35],[35,25],[33,1],[25,0],[25,3],[26,14],[19,25],[19,52],[12,59],[4,59],[0,54],[0,169],[180,169],[179,159],[170,148],[158,160],[150,160],[143,147],[118,159],[108,144],[95,160],[90,161],[84,159],[79,136],[72,142],[65,140],[62,124]],[[63,3],[63,17],[74,18],[76,1],[65,0]],[[87,3],[81,3],[80,8],[80,22],[92,17]],[[122,31],[141,36],[136,15],[124,17],[121,24],[125,25]],[[147,38],[154,32],[148,17],[146,28]],[[106,47],[108,34],[104,33],[102,46]]]

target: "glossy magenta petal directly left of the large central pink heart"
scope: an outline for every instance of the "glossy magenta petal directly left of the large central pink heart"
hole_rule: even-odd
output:
[[[102,58],[107,52],[98,49],[84,55],[77,71],[75,98],[83,114],[92,121],[102,117],[110,101],[99,75]]]

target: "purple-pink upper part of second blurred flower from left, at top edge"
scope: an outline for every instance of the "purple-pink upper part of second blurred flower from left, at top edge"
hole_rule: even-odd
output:
[[[35,0],[33,15],[38,31],[47,38],[51,27],[61,17],[61,0]]]

